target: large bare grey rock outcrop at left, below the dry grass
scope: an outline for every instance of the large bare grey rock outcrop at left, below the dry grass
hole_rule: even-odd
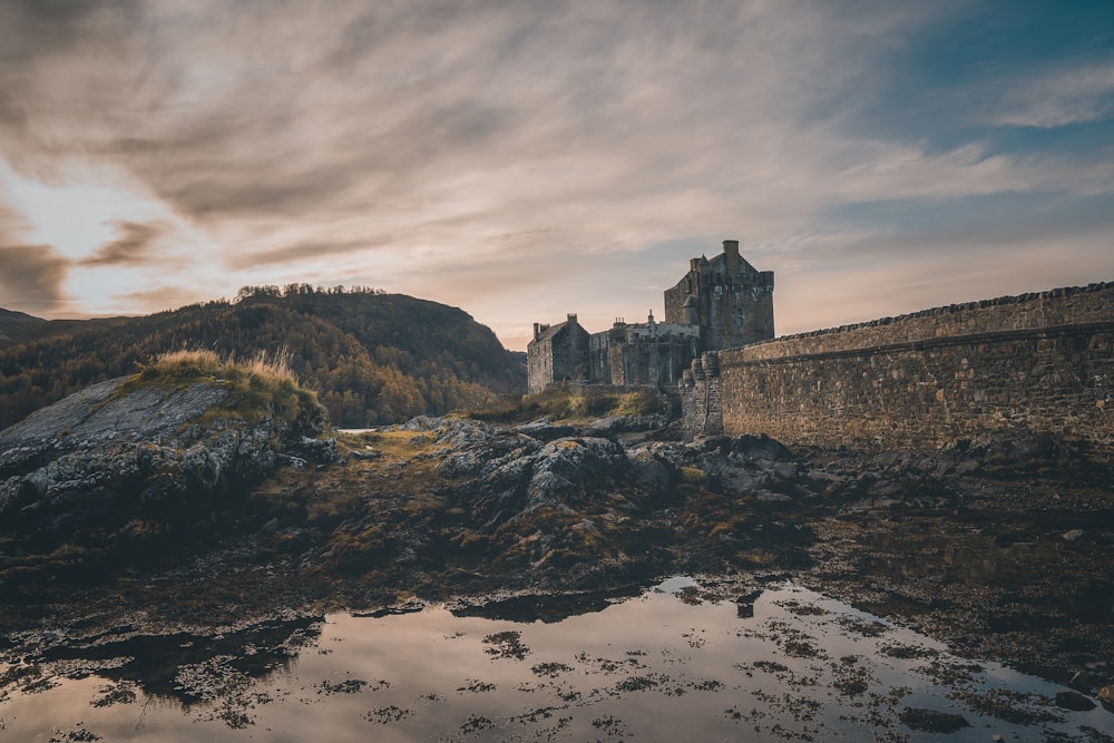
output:
[[[48,541],[167,526],[271,475],[280,463],[335,457],[307,438],[321,411],[293,420],[265,407],[252,420],[222,410],[219,380],[94,384],[0,432],[0,519]]]

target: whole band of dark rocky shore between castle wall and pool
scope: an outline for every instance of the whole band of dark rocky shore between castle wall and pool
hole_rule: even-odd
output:
[[[107,383],[0,433],[0,590],[52,612],[74,587],[115,596],[138,578],[130,606],[164,592],[175,617],[207,617],[196,585],[238,615],[277,595],[352,606],[749,573],[921,622],[976,655],[1036,658],[1114,698],[1096,695],[1114,587],[1094,557],[1114,535],[1112,480],[1066,444],[870,454],[452,417],[329,442],[304,438],[312,417],[228,412],[216,381],[143,389]],[[335,465],[310,466],[336,449]],[[113,561],[95,559],[105,549]]]

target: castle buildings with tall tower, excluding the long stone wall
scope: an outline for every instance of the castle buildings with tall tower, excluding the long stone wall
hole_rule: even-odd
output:
[[[756,271],[739,254],[692,258],[688,273],[665,291],[665,322],[616,320],[589,333],[569,314],[556,325],[534,324],[527,345],[529,390],[554,382],[675,388],[694,359],[707,351],[773,338],[773,272]]]

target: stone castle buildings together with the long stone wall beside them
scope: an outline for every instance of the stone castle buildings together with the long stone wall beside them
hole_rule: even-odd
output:
[[[1114,283],[1056,289],[774,338],[773,273],[724,241],[665,292],[665,322],[534,326],[530,392],[564,380],[681,397],[690,437],[934,450],[1055,436],[1114,463]]]

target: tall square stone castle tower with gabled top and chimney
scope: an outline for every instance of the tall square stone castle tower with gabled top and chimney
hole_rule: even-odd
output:
[[[665,322],[700,325],[701,349],[720,351],[773,338],[773,272],[756,271],[723,241],[711,261],[692,258],[688,273],[665,290]]]

